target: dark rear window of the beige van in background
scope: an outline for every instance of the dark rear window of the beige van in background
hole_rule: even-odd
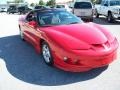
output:
[[[92,8],[92,5],[89,2],[76,2],[74,5],[74,8],[76,8],[76,9],[88,9],[88,8]]]

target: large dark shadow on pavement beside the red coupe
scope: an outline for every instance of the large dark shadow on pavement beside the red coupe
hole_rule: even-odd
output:
[[[34,48],[22,41],[18,35],[0,38],[0,58],[6,63],[8,72],[27,83],[57,86],[93,79],[106,67],[83,73],[72,73],[47,66]]]

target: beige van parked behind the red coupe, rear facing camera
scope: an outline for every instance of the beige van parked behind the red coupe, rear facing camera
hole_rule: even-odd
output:
[[[73,5],[73,13],[82,19],[93,21],[94,8],[92,2],[88,0],[76,1]]]

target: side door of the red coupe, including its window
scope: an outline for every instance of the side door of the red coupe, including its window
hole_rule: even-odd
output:
[[[33,26],[31,23],[36,23],[36,26]],[[37,12],[31,12],[26,17],[26,22],[24,23],[24,34],[33,46],[38,46],[41,34],[38,30],[37,25]]]

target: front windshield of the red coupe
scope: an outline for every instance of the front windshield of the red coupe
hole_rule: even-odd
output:
[[[50,11],[38,14],[40,26],[82,23],[83,21],[67,11]]]

